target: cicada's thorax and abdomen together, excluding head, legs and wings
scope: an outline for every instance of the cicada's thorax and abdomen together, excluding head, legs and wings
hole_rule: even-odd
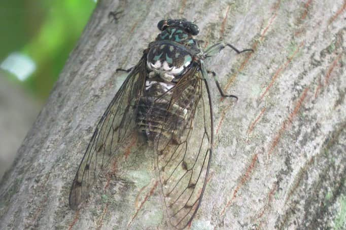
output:
[[[199,81],[193,37],[179,27],[163,30],[147,51],[147,76],[137,110],[137,124],[149,140],[161,136],[179,142]],[[176,97],[176,98],[172,98]]]

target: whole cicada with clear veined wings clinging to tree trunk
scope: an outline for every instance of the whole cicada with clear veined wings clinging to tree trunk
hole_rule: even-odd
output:
[[[203,51],[193,37],[198,26],[186,19],[161,20],[157,26],[161,32],[129,69],[96,126],[71,187],[70,206],[79,208],[100,171],[136,133],[154,148],[170,224],[185,228],[201,204],[213,152],[212,71],[204,60],[226,46],[237,53],[252,50],[220,42]],[[222,97],[235,97],[215,82]]]

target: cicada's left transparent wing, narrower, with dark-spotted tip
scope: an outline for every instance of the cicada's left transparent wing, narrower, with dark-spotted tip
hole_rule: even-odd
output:
[[[135,129],[137,104],[145,83],[144,58],[133,68],[96,126],[70,191],[70,207],[78,209],[101,170]]]

